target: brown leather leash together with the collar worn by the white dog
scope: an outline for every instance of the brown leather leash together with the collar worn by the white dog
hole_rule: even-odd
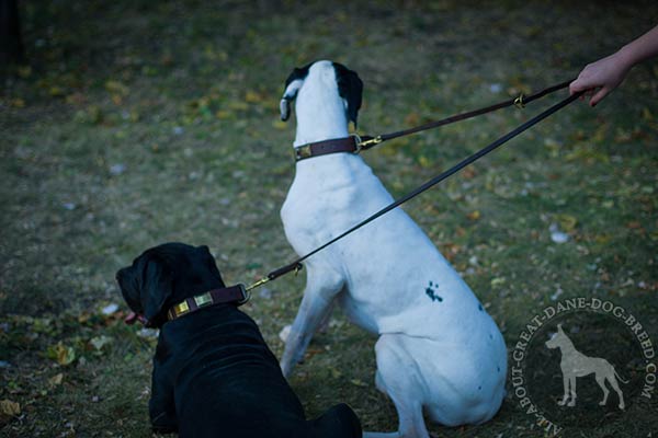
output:
[[[395,132],[382,134],[378,136],[358,136],[352,135],[350,137],[333,138],[330,140],[316,141],[295,148],[295,161],[305,160],[308,158],[326,155],[329,153],[339,152],[351,152],[359,153],[362,150],[372,149],[384,141],[393,140],[394,138],[405,137],[412,134],[421,132],[423,130],[439,128],[441,126],[450,125],[456,122],[466,120],[488,113],[494,113],[498,110],[507,108],[510,106],[517,106],[518,108],[525,107],[526,104],[544,97],[547,94],[554,93],[558,90],[569,87],[574,80],[564,81],[555,85],[548,87],[536,93],[525,95],[523,93],[519,96],[509,99],[503,102],[496,103],[494,105],[485,106],[483,108],[469,111],[466,113],[460,113],[450,117],[442,118],[440,120],[429,122],[423,125],[415,126],[412,128],[397,130]]]

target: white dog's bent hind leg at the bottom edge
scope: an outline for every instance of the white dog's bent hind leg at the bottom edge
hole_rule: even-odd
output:
[[[392,434],[364,433],[364,438],[429,438],[422,416],[423,390],[416,368],[398,335],[382,335],[375,345],[377,354],[377,376],[375,382],[379,391],[387,394],[398,413],[398,431]]]

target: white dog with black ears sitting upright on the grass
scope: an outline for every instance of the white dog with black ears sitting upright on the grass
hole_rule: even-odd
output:
[[[362,82],[330,61],[295,69],[282,118],[296,99],[294,147],[348,137]],[[305,254],[393,201],[363,159],[332,153],[298,161],[281,217]],[[423,408],[447,426],[479,424],[504,395],[507,350],[496,323],[423,231],[396,208],[311,256],[302,306],[281,361],[284,374],[303,358],[338,301],[351,321],[379,336],[377,388],[395,403],[399,429],[368,437],[429,437]]]

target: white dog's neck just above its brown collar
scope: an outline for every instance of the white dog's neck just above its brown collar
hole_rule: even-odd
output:
[[[297,131],[294,147],[348,137],[348,117],[338,88],[307,81],[295,104]]]

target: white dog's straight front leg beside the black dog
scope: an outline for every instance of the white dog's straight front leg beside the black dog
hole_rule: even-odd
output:
[[[342,277],[328,269],[309,267],[307,273],[302,306],[281,358],[281,370],[285,377],[290,376],[293,367],[304,357],[314,333],[331,310],[333,299],[343,287]]]

